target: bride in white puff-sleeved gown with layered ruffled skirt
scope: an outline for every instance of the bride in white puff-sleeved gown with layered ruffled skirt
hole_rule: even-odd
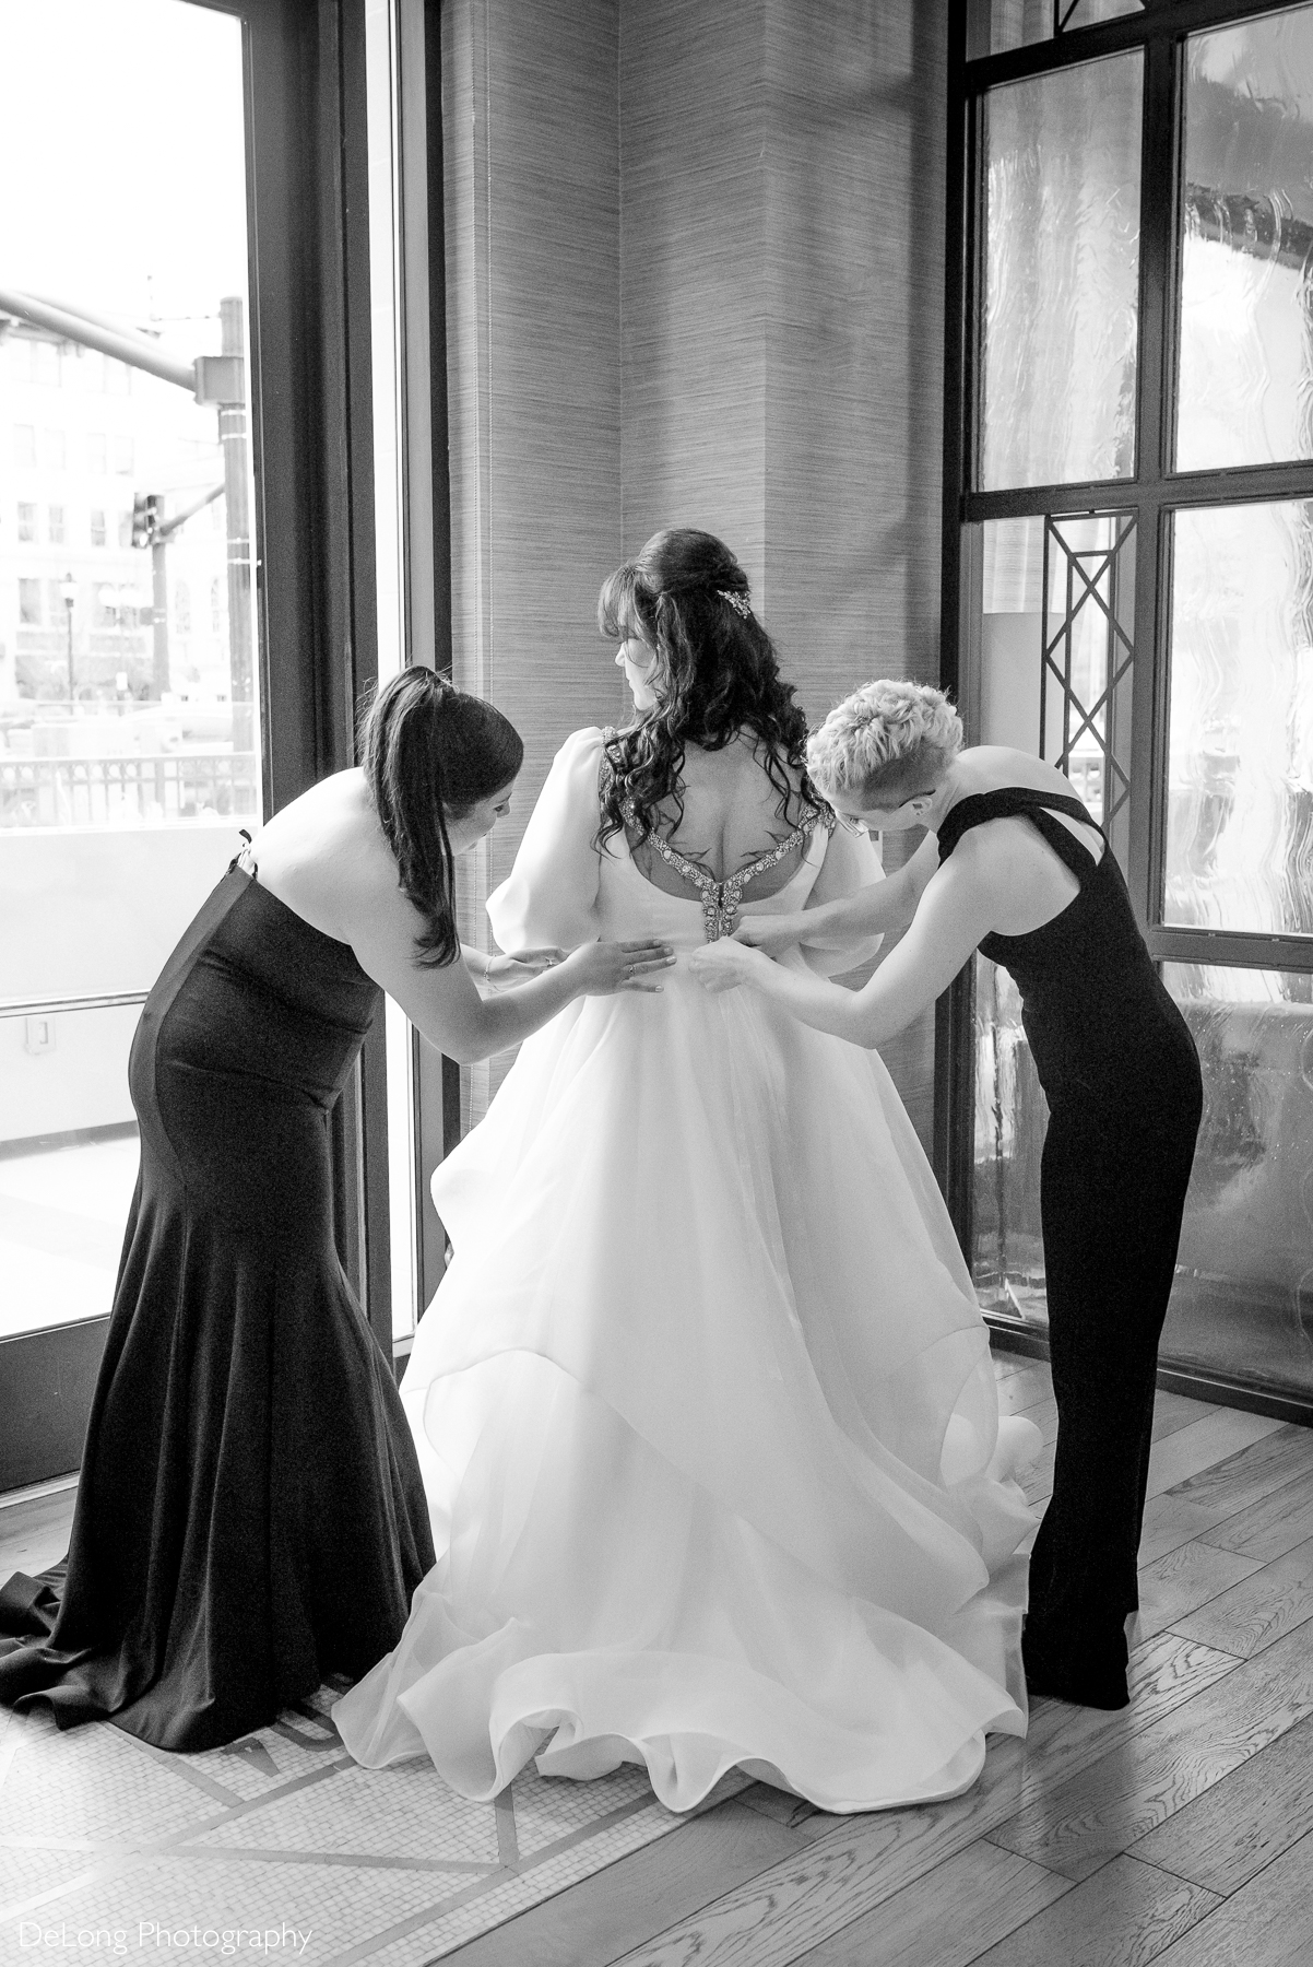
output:
[[[658,533],[599,624],[635,718],[556,755],[503,948],[686,954],[881,877],[717,539]],[[334,1707],[360,1762],[427,1751],[470,1798],[645,1762],[670,1810],[739,1766],[847,1812],[953,1796],[1024,1733],[1038,1434],[999,1420],[875,1052],[680,962],[529,1039],[432,1188],[454,1259],[401,1397],[438,1562]]]

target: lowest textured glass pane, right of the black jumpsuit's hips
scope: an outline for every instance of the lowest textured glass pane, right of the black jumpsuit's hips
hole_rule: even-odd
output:
[[[1203,1125],[1164,1355],[1313,1391],[1313,978],[1166,964]]]

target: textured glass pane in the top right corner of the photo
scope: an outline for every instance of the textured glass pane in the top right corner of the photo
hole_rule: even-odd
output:
[[[1313,6],[1185,43],[1179,470],[1313,456]]]

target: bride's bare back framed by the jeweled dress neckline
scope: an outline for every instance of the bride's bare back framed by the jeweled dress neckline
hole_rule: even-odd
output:
[[[680,799],[664,799],[656,808],[660,836],[686,860],[706,867],[712,879],[725,881],[771,854],[800,818],[798,771],[786,759],[778,759],[774,771],[776,781],[767,775],[767,749],[751,732],[741,732],[719,751],[686,744]],[[780,810],[780,779],[792,795],[788,812]],[[629,844],[649,881],[666,893],[688,893],[655,848],[637,844],[637,830],[629,830]],[[782,887],[796,871],[802,852],[804,844],[786,854],[753,883],[751,893],[763,897]]]

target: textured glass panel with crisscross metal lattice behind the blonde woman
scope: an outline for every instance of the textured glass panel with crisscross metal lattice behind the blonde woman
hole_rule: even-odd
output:
[[[1065,771],[1126,865],[1134,517],[997,519],[981,533],[981,744]]]

